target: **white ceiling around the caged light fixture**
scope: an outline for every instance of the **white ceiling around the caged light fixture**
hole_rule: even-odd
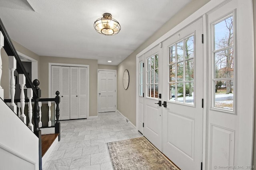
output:
[[[0,18],[13,40],[40,56],[118,65],[190,1],[0,0]],[[117,35],[94,30],[105,12],[120,23]]]

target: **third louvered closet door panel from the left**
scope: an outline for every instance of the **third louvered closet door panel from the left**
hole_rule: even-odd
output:
[[[70,119],[78,119],[78,67],[70,67]]]

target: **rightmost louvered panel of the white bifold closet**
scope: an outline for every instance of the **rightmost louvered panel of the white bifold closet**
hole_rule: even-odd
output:
[[[87,118],[87,68],[79,67],[79,118]]]

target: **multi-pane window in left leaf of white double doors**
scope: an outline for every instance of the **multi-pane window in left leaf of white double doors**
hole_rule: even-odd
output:
[[[158,53],[147,58],[147,97],[158,98]]]

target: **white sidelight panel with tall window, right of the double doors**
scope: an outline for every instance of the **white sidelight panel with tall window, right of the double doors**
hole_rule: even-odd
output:
[[[252,16],[251,0],[232,0],[208,14],[209,170],[253,169]]]

